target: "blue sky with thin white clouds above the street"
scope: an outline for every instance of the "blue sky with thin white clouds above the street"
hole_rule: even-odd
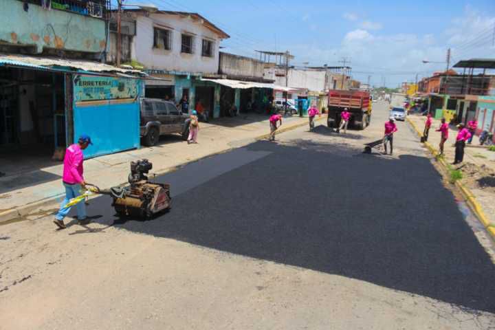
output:
[[[125,2],[131,2],[125,0]],[[133,3],[135,1],[132,1]],[[139,2],[139,1],[138,1]],[[224,51],[289,50],[295,65],[339,65],[347,57],[353,76],[397,87],[452,61],[495,58],[495,0],[283,1],[142,0],[160,9],[194,11],[230,34]]]

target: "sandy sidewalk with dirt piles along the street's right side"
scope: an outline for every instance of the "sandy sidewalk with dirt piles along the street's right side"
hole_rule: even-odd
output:
[[[409,115],[408,120],[422,134],[426,117]],[[440,120],[433,119],[428,137],[428,142],[435,153],[439,151],[440,132],[435,131],[439,126]],[[445,163],[447,164],[454,162],[456,135],[456,127],[450,126],[449,137],[444,147]],[[452,168],[461,170],[463,175],[460,179],[461,184],[468,188],[467,192],[481,206],[489,222],[488,227],[491,227],[495,232],[495,152],[480,146],[477,136],[473,138],[472,144],[466,144],[464,151],[464,162],[460,165],[452,165]]]

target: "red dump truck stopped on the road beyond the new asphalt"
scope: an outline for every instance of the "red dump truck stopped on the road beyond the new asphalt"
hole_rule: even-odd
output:
[[[340,124],[340,113],[344,108],[349,109],[351,119],[349,126],[365,129],[371,120],[371,96],[369,91],[329,91],[328,121],[329,127],[337,128]]]

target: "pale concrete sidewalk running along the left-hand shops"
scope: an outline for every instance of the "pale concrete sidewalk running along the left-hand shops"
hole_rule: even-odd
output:
[[[326,116],[320,118],[322,122]],[[283,118],[281,131],[307,125],[307,118]],[[200,123],[198,144],[187,144],[180,135],[160,138],[157,146],[96,157],[85,161],[85,179],[100,188],[110,188],[126,182],[129,163],[146,158],[153,163],[152,173],[166,173],[197,159],[245,146],[267,137],[270,132],[266,115],[239,115],[221,118],[211,123]],[[19,164],[19,173],[0,178],[0,224],[41,207],[61,203],[64,190],[61,182],[63,164],[52,162],[36,170],[25,172]],[[45,164],[46,165],[46,164]]]

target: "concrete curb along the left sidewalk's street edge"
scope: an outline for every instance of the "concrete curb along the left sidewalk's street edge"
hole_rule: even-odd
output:
[[[315,122],[319,122],[319,121],[321,121],[321,120],[323,120],[325,118],[327,118],[327,116],[326,115],[322,115],[321,118],[317,118],[315,120]],[[308,124],[307,122],[300,122],[298,124],[293,124],[291,126],[287,126],[287,127],[284,127],[283,129],[277,130],[277,134],[284,133],[284,132],[287,132],[287,131],[292,131],[294,129],[298,129],[299,127],[305,126],[307,124]],[[257,137],[254,137],[254,140],[259,141],[259,140],[267,139],[269,136],[270,136],[270,133],[259,135]],[[241,147],[242,146],[238,146],[238,147],[235,147],[235,148],[241,148]],[[193,163],[193,162],[198,162],[201,159],[204,159],[204,158],[207,158],[207,157],[211,157],[211,156],[214,156],[214,155],[219,155],[221,153],[228,153],[229,151],[232,151],[235,148],[227,148],[227,149],[224,149],[222,151],[217,151],[215,153],[210,153],[210,154],[208,154],[206,156],[197,157],[197,158],[194,158],[194,159],[189,159],[187,162],[181,163],[181,164],[179,164],[177,166],[173,166],[173,167],[170,167],[170,168],[165,168],[163,170],[157,170],[155,172],[155,174],[156,175],[164,175],[164,174],[167,174],[167,173],[170,173],[170,172],[174,172],[178,168],[181,168],[182,166],[186,166],[187,164],[190,164],[190,163]],[[121,184],[118,184],[118,186],[123,186],[124,184],[126,184],[126,182],[123,182]],[[21,218],[22,217],[26,217],[27,215],[30,214],[30,212],[32,212],[32,211],[34,211],[36,209],[39,209],[39,208],[41,208],[44,205],[56,203],[57,201],[63,199],[64,196],[65,196],[65,194],[59,194],[59,195],[55,195],[55,196],[52,196],[52,197],[47,197],[45,199],[41,199],[39,201],[35,201],[33,203],[28,203],[28,204],[25,204],[23,206],[19,206],[19,207],[16,207],[16,208],[11,208],[10,210],[5,210],[3,212],[0,212],[0,225],[6,225],[6,224],[11,223],[11,222],[14,222],[14,221],[15,222],[22,221]]]

